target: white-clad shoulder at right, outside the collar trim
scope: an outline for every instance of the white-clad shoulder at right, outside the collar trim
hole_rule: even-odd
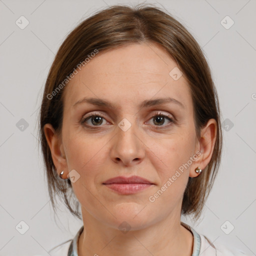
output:
[[[199,234],[201,238],[200,256],[250,256],[238,248],[228,248],[221,243],[211,242],[206,236]]]

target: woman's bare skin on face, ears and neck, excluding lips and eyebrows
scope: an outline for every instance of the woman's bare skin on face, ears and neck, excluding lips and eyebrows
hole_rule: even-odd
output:
[[[81,204],[84,231],[78,255],[191,255],[193,237],[180,225],[181,202],[188,177],[204,169],[215,142],[216,122],[210,119],[195,133],[192,98],[182,75],[169,72],[177,64],[156,43],[128,44],[99,52],[65,87],[63,126],[57,135],[50,124],[44,133],[58,174],[75,169],[80,178],[72,183]],[[75,104],[83,97],[110,101],[114,108],[90,103]],[[172,97],[168,102],[139,108],[143,100]],[[157,125],[154,115],[167,118]],[[81,124],[90,113],[103,115],[95,129]],[[131,126],[123,131],[118,123]],[[161,188],[189,157],[201,155],[154,201],[149,196]],[[123,195],[102,183],[115,176],[138,175],[154,183],[149,188]],[[130,230],[120,231],[126,221]]]

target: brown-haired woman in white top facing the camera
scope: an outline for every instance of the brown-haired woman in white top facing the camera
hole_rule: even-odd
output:
[[[222,135],[205,57],[168,13],[115,5],[71,31],[46,80],[40,136],[53,208],[57,194],[83,221],[52,256],[241,254],[180,221],[201,213]]]

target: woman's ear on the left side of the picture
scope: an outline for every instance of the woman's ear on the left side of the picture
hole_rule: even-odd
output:
[[[67,169],[66,157],[61,138],[56,134],[50,123],[46,123],[43,126],[43,131],[51,151],[53,163],[59,175],[62,170]],[[66,178],[65,175],[67,175],[67,173],[64,171],[62,178]]]

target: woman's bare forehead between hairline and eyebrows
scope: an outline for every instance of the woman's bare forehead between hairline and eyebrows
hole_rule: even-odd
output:
[[[183,76],[169,72],[176,61],[156,43],[128,44],[97,53],[69,81],[64,106],[70,108],[84,96],[105,98],[118,104],[170,96],[189,104]],[[187,102],[185,102],[187,101]]]

